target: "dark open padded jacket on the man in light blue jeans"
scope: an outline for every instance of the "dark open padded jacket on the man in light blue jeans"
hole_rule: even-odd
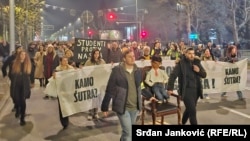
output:
[[[141,82],[142,82],[142,71],[141,69],[134,67],[135,85],[137,88],[137,109],[141,110],[142,99],[141,99]],[[124,114],[126,110],[126,102],[128,97],[128,80],[125,74],[125,68],[123,63],[115,66],[112,69],[110,75],[105,96],[102,101],[101,110],[108,111],[110,100],[112,99],[112,110],[119,114]]]

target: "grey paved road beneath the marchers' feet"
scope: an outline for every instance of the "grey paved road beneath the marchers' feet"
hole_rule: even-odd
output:
[[[237,101],[236,93],[228,93],[226,98],[211,94],[209,100],[200,100],[197,106],[199,124],[250,124],[250,71],[248,89],[243,91],[245,101]],[[27,100],[26,125],[11,112],[13,107],[9,98],[8,84],[0,76],[0,141],[118,141],[120,125],[114,113],[108,118],[88,121],[86,113],[70,117],[70,125],[62,129],[59,122],[57,100],[44,100],[43,90],[36,82],[32,95]],[[183,107],[183,105],[182,105]],[[150,116],[146,115],[150,124]],[[165,118],[166,124],[176,124],[177,116]],[[139,123],[140,121],[138,121]]]

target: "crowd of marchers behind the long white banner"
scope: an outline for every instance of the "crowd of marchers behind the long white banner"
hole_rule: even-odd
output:
[[[66,56],[69,64],[74,68],[80,68],[84,66],[85,62],[74,61],[74,41],[34,41],[28,44],[26,47],[32,64],[34,79],[39,80],[40,87],[46,87],[49,78],[52,76],[53,70],[59,65],[59,58]],[[20,46],[20,45],[16,45]],[[195,55],[201,60],[214,60],[224,61],[224,58],[228,56],[228,48],[235,46],[236,50],[238,45],[226,44],[216,45],[211,41],[204,44],[187,45],[184,41],[162,43],[159,39],[152,42],[137,42],[137,41],[110,41],[107,43],[107,51],[101,53],[102,59],[108,63],[118,63],[122,61],[122,52],[126,49],[130,49],[135,54],[136,60],[150,59],[152,55],[158,54],[163,58],[169,58],[171,60],[178,60],[183,54],[186,47],[193,47]],[[25,49],[25,47],[23,47]],[[10,45],[7,41],[0,39],[0,56],[2,61],[6,61],[11,56]],[[237,52],[236,57],[240,56]],[[48,99],[45,96],[45,99]]]

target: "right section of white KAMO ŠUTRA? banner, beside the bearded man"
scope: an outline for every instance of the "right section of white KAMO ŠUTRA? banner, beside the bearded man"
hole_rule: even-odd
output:
[[[203,79],[203,93],[222,93],[245,90],[247,59],[235,63],[202,61],[207,72]]]

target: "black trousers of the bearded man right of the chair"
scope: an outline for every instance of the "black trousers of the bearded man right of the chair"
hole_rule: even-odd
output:
[[[196,117],[196,105],[198,101],[197,88],[186,88],[185,97],[183,97],[183,102],[185,105],[185,111],[182,117],[182,124],[186,124],[187,120],[191,125],[197,125]]]

